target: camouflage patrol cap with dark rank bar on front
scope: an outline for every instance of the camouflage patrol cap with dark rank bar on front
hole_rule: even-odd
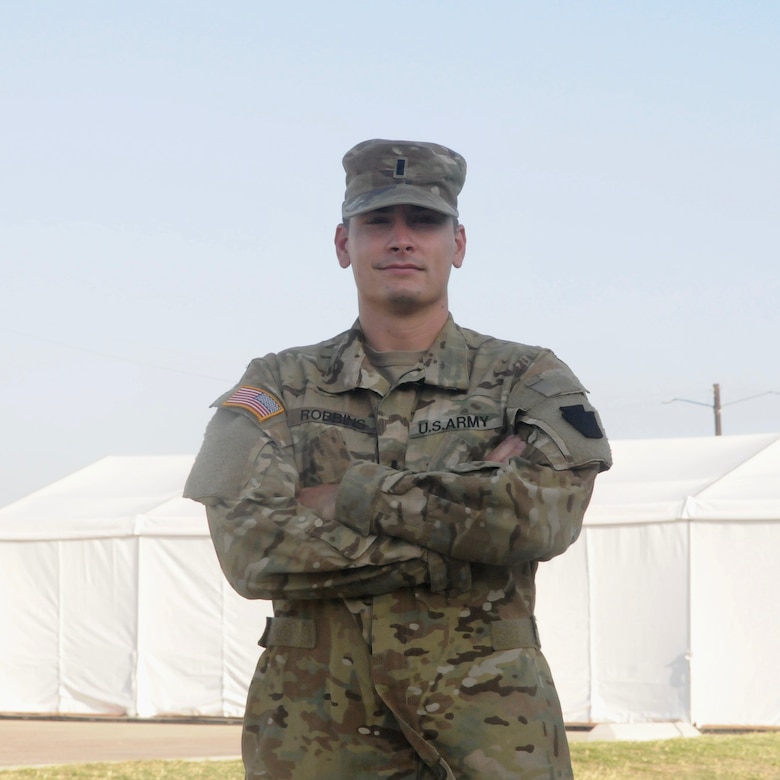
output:
[[[466,161],[452,149],[421,141],[363,141],[344,155],[344,219],[384,206],[424,206],[458,216]]]

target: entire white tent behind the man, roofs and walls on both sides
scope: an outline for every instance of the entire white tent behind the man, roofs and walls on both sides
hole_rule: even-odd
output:
[[[613,450],[539,571],[566,720],[780,725],[780,434]],[[222,577],[191,463],[106,458],[0,510],[0,711],[241,714],[268,604]]]

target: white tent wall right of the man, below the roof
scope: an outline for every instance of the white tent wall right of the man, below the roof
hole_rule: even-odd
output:
[[[540,565],[567,722],[780,726],[780,522],[593,525]]]

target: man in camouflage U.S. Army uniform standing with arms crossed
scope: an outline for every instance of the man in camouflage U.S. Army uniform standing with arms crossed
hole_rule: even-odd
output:
[[[254,360],[185,489],[233,587],[273,599],[246,777],[570,778],[534,575],[609,467],[601,424],[550,351],[449,316],[463,158],[374,140],[344,167],[359,319]]]

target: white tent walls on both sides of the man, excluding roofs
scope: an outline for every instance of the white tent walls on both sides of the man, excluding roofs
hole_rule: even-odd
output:
[[[778,549],[780,523],[586,526],[537,578],[565,719],[780,725]],[[0,711],[243,712],[269,605],[206,536],[2,542],[0,593]]]

